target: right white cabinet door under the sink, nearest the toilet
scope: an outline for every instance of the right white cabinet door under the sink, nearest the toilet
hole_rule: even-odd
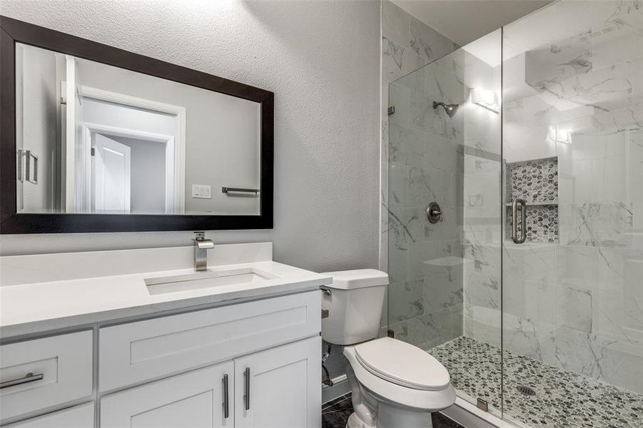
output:
[[[321,426],[321,338],[235,360],[236,428]]]

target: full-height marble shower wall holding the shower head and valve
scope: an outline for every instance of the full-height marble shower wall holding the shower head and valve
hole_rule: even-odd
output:
[[[429,108],[432,98],[426,91],[443,94],[436,81],[425,85],[423,71],[412,75],[419,79],[412,88],[407,83],[395,84],[389,93],[389,84],[449,54],[457,45],[390,1],[383,1],[382,31],[380,267],[389,272],[391,280],[389,312],[383,316],[383,325],[395,330],[396,337],[420,345],[437,336],[433,314],[442,306],[449,309],[441,312],[440,325],[456,330],[460,325],[449,337],[461,332],[461,265],[451,265],[454,262],[449,258],[460,255],[452,196],[457,158],[450,139],[457,131],[453,123]],[[462,86],[458,91],[457,81],[450,85],[452,98],[460,98]],[[388,106],[395,106],[392,116],[388,116]],[[424,210],[432,200],[445,208],[445,221],[438,225],[425,220]],[[436,261],[431,265],[427,260]],[[427,300],[430,295],[425,289],[434,284],[429,278],[442,285],[439,299]]]

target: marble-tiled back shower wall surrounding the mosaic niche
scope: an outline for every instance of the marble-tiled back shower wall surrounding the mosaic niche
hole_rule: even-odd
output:
[[[560,171],[560,244],[504,248],[503,345],[639,393],[642,34],[638,1],[563,0],[505,27],[503,40],[503,156],[557,157]],[[473,263],[500,263],[483,253]],[[496,296],[478,290],[466,335],[498,345]]]

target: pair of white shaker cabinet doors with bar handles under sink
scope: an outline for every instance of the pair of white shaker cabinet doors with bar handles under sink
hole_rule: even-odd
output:
[[[318,428],[321,339],[176,374],[101,399],[101,428]]]

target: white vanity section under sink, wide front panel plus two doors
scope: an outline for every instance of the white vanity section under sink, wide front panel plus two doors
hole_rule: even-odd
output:
[[[101,328],[101,428],[320,427],[320,315],[313,291]]]

